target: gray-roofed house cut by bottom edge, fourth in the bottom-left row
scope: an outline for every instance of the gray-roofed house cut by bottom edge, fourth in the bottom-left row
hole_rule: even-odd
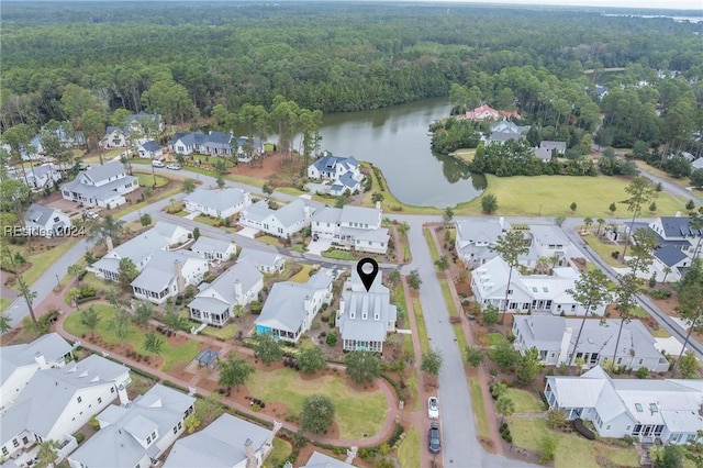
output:
[[[275,422],[272,430],[265,428],[225,413],[176,442],[164,468],[260,468],[280,427]]]

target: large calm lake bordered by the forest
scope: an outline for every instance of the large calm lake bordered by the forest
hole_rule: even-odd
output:
[[[429,148],[427,126],[447,116],[449,110],[447,99],[442,98],[325,115],[320,130],[322,149],[372,163],[383,171],[388,189],[404,203],[454,207],[478,197],[486,178]]]

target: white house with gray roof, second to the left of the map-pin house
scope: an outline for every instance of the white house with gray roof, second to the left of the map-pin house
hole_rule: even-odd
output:
[[[190,317],[210,325],[223,326],[237,308],[257,300],[264,289],[264,276],[246,259],[220,275],[211,285],[203,286],[188,304]]]

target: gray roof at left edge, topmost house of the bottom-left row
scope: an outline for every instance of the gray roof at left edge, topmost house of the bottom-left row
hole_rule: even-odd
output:
[[[4,383],[21,366],[35,363],[37,353],[43,355],[47,364],[63,361],[64,356],[71,352],[71,346],[58,333],[42,335],[32,343],[3,346],[0,348],[0,385]]]

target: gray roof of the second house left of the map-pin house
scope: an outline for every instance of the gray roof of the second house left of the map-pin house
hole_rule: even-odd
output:
[[[237,303],[234,292],[235,281],[239,281],[242,283],[242,291],[246,292],[263,279],[264,276],[253,263],[246,259],[239,259],[239,261],[230,267],[224,274],[220,275],[210,287],[199,292],[188,307],[207,311],[221,311],[223,310],[223,302],[217,298],[217,296],[220,296],[224,299],[224,304],[231,308]]]

